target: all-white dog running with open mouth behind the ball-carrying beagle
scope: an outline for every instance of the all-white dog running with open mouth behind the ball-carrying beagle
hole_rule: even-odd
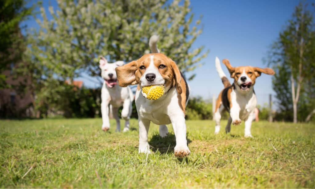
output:
[[[132,112],[132,101],[134,95],[129,87],[119,87],[117,85],[117,76],[115,68],[122,66],[123,61],[117,61],[114,63],[108,63],[104,57],[100,58],[101,75],[104,79],[102,91],[101,91],[101,112],[102,112],[102,130],[107,131],[110,128],[109,124],[109,111],[116,119],[117,127],[116,131],[120,131],[120,121],[118,117],[118,109],[123,106],[121,117],[126,120],[125,128],[123,131],[129,130],[129,119]],[[110,109],[108,107],[110,105]]]

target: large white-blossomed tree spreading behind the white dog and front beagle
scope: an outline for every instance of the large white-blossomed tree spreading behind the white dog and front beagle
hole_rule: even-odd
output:
[[[51,20],[41,8],[43,20],[37,20],[39,30],[29,32],[26,51],[31,61],[26,70],[37,82],[35,91],[49,91],[54,79],[73,80],[82,73],[99,76],[100,55],[109,62],[139,59],[149,53],[153,34],[160,35],[159,49],[184,74],[194,70],[208,51],[202,53],[203,46],[192,49],[202,27],[200,19],[192,23],[189,4],[189,0],[59,0],[57,10],[49,7]]]

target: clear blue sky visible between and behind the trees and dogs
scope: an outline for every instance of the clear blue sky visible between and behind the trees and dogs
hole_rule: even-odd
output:
[[[29,4],[34,2],[36,1],[31,1]],[[262,58],[266,57],[270,45],[277,39],[298,3],[297,0],[192,0],[195,20],[199,15],[203,15],[203,33],[192,47],[204,45],[205,50],[210,50],[208,56],[202,60],[205,64],[191,72],[197,74],[188,82],[192,95],[209,99],[213,94],[218,95],[223,89],[223,84],[215,70],[215,56],[220,60],[229,59],[232,66],[266,67]],[[43,7],[47,12],[49,5],[55,8],[58,6],[56,1],[44,0]],[[34,19],[27,20],[23,24],[37,27]],[[160,34],[160,37],[163,35]],[[228,74],[224,65],[222,68]],[[85,86],[98,86],[84,77],[78,79],[82,79]],[[256,80],[255,92],[258,104],[268,102],[268,95],[274,94],[271,79],[272,76],[262,74]],[[232,82],[232,79],[230,81]]]

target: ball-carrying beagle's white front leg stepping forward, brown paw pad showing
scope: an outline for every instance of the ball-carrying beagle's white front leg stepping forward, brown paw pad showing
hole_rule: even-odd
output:
[[[184,115],[173,115],[170,117],[175,137],[176,137],[176,146],[174,148],[174,155],[176,157],[186,157],[190,154],[189,148],[187,146],[186,140],[186,123]]]

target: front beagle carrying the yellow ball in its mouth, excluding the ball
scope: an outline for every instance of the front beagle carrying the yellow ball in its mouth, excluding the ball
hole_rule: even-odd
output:
[[[138,84],[135,104],[139,116],[139,153],[150,153],[148,130],[150,122],[160,125],[160,135],[168,134],[165,124],[172,123],[176,146],[176,157],[190,154],[186,140],[185,108],[189,96],[188,85],[173,60],[159,53],[157,36],[150,39],[152,54],[116,68],[118,84],[122,87]],[[146,99],[142,87],[164,85],[165,93],[157,100]]]

